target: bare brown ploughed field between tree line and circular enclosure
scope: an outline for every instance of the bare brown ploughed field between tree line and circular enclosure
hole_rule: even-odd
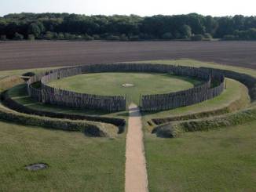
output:
[[[256,42],[0,42],[0,71],[191,58],[256,68]]]

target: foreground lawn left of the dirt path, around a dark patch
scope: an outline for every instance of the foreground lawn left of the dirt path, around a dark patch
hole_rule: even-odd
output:
[[[0,122],[0,191],[123,191],[125,138]],[[49,168],[28,172],[25,165]]]

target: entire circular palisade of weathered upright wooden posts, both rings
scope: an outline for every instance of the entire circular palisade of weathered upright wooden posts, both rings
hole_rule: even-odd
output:
[[[27,92],[32,98],[39,102],[58,106],[108,111],[126,110],[126,98],[124,96],[98,96],[71,92],[53,88],[48,84],[51,81],[77,74],[132,71],[176,74],[192,78],[200,78],[205,82],[203,85],[181,92],[142,96],[141,110],[167,110],[199,103],[203,100],[209,100],[214,96],[218,96],[224,89],[223,75],[203,68],[151,63],[108,63],[67,67],[46,71],[42,74],[36,74],[27,82]],[[32,84],[40,81],[42,88],[35,89]],[[218,82],[218,86],[210,88],[212,81]]]

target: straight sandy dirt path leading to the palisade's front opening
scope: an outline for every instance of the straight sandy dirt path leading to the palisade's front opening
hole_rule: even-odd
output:
[[[144,158],[141,113],[135,104],[129,107],[126,136],[126,192],[148,191],[148,176]]]

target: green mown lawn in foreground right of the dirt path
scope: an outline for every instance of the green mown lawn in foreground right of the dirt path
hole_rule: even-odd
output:
[[[255,191],[256,121],[181,138],[144,138],[150,191]]]

